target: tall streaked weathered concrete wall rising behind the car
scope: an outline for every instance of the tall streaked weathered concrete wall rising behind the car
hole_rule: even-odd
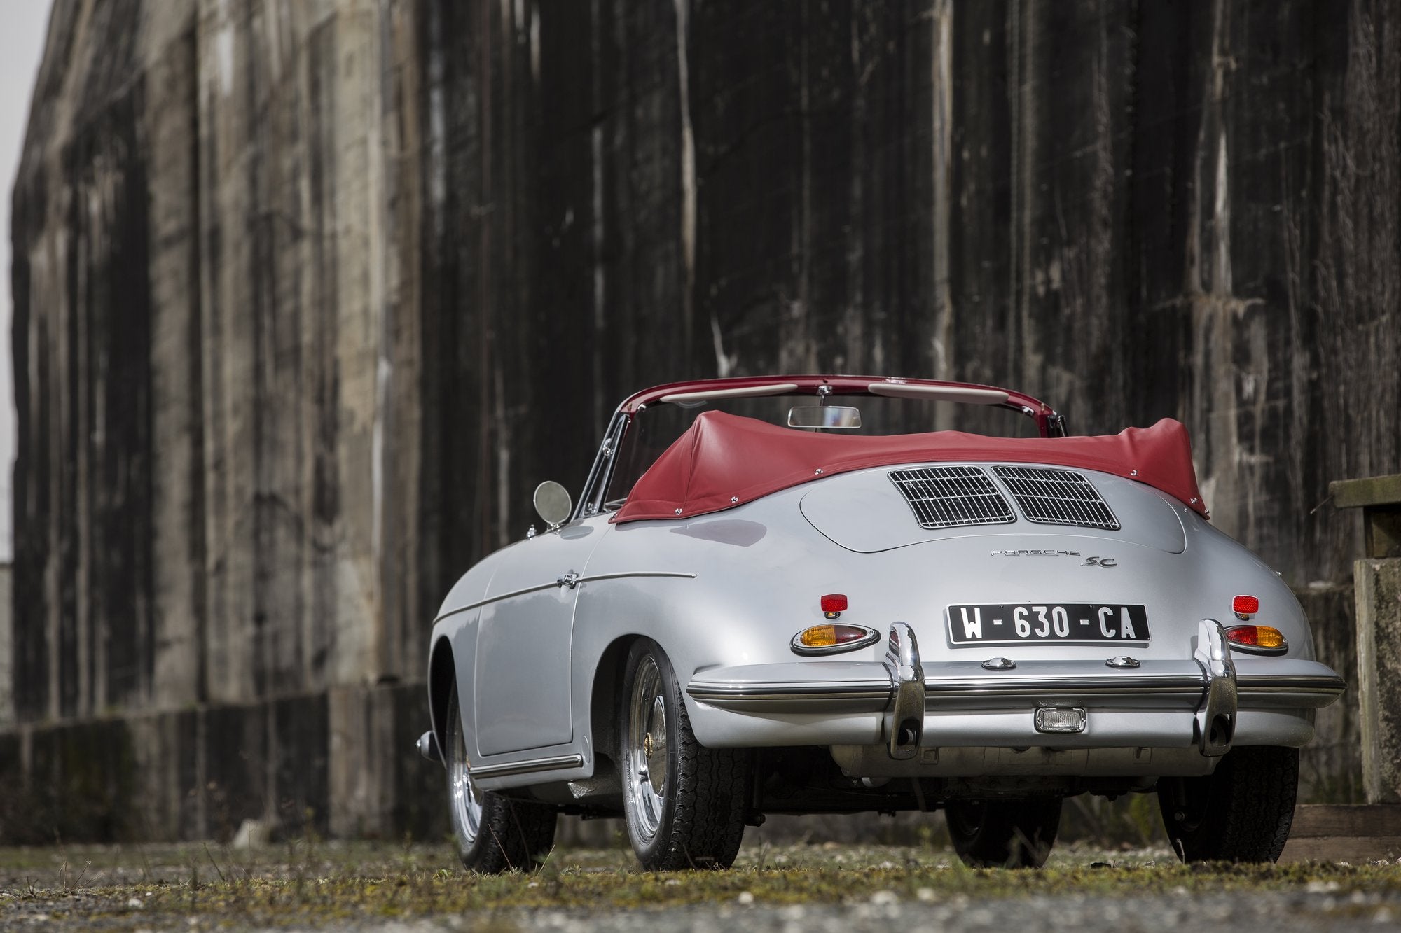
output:
[[[1173,415],[1217,525],[1346,588],[1325,485],[1401,452],[1398,29],[1377,0],[56,0],[11,231],[17,716],[420,677],[530,489],[681,375]]]

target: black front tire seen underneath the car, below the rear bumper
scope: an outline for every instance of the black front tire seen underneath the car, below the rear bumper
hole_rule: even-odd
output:
[[[948,838],[975,869],[1040,869],[1061,828],[1059,797],[950,800]]]

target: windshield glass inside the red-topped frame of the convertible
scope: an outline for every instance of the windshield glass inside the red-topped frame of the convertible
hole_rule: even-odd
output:
[[[787,426],[789,409],[818,403],[813,394],[764,398],[712,399],[685,406],[658,402],[633,415],[623,434],[604,509],[618,509],[637,478],[691,427],[700,412],[726,412]],[[834,434],[918,434],[961,430],[992,437],[1040,437],[1037,422],[1000,405],[961,405],[926,399],[881,398],[876,395],[829,395],[828,405],[860,409],[862,426],[832,430]],[[815,430],[815,429],[790,429]],[[595,500],[597,502],[597,500]]]

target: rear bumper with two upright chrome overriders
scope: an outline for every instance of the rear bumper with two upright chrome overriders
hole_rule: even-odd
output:
[[[1195,748],[1216,758],[1237,740],[1302,744],[1311,710],[1345,688],[1317,661],[1233,658],[1220,622],[1202,619],[1192,656],[1180,660],[932,664],[913,630],[895,622],[884,661],[710,668],[686,693],[779,720],[878,716],[884,755],[901,762],[927,759],[932,747]]]

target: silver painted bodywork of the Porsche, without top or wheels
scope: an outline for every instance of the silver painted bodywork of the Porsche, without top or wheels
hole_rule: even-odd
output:
[[[813,660],[794,660],[790,650],[794,632],[822,622],[818,598],[834,591],[850,600],[843,622],[885,630],[901,619],[918,639],[923,747],[1075,740],[1091,748],[1189,748],[1201,756],[1194,741],[1206,691],[1194,660],[1199,621],[1230,612],[1237,593],[1261,598],[1257,621],[1278,628],[1290,650],[1231,658],[1233,744],[1303,744],[1313,734],[1310,710],[1342,689],[1313,661],[1307,619],[1275,573],[1152,488],[1086,471],[1122,523],[1119,532],[1021,520],[927,532],[887,472],[818,479],[693,520],[576,518],[486,558],[448,594],[433,629],[434,644],[448,639],[460,695],[474,698],[464,738],[481,765],[478,786],[590,778],[600,658],[639,636],[667,651],[686,684],[682,699],[696,738],[708,745],[885,748],[892,688],[881,646]],[[870,525],[869,551],[818,534],[804,514],[822,499],[824,528],[834,530],[842,509],[850,516],[841,520],[846,531]],[[1114,555],[1118,566],[992,551]],[[559,587],[570,570],[580,574],[576,586]],[[1142,667],[1133,671],[1107,668],[1103,646],[1069,644],[1005,646],[1017,668],[985,671],[986,653],[950,644],[943,607],[989,602],[1142,604],[1152,640],[1135,649]],[[1086,733],[1035,733],[1033,710],[1042,700],[1086,705]],[[444,724],[434,730],[441,737]],[[553,763],[544,772],[483,770],[521,761]]]

